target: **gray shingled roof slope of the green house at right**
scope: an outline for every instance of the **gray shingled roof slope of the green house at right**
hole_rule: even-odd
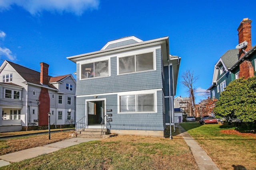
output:
[[[238,53],[238,49],[231,49],[220,57],[226,68],[232,67],[238,61]]]

